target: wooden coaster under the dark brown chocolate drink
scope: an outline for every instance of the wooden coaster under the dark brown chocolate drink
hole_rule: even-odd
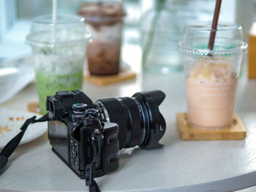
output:
[[[124,71],[124,72],[120,72],[119,74],[106,75],[106,76],[84,74],[83,79],[86,81],[92,82],[96,85],[104,86],[104,85],[109,85],[115,82],[134,79],[135,77],[136,77],[135,72]]]

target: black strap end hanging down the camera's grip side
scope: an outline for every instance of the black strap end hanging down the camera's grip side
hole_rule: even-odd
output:
[[[94,172],[98,164],[101,161],[101,151],[103,143],[103,134],[99,131],[98,128],[94,129],[94,132],[91,133],[91,145],[94,148],[94,158],[91,161],[91,164],[86,166],[86,186],[89,186],[90,192],[100,192],[99,186],[94,180]]]

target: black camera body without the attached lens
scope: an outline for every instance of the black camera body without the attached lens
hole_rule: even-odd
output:
[[[99,120],[99,111],[86,94],[59,91],[48,96],[46,106],[52,119],[48,121],[52,150],[78,177],[89,177],[95,159],[94,177],[118,169],[118,125]]]

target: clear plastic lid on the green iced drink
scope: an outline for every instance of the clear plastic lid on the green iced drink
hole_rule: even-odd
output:
[[[58,46],[85,43],[89,38],[84,18],[58,15],[56,23],[53,23],[52,15],[42,15],[32,20],[26,43],[31,46]]]

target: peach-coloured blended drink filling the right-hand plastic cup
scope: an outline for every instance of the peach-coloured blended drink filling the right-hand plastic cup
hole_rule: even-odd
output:
[[[225,57],[200,58],[185,79],[189,125],[229,128],[233,123],[238,74]]]

